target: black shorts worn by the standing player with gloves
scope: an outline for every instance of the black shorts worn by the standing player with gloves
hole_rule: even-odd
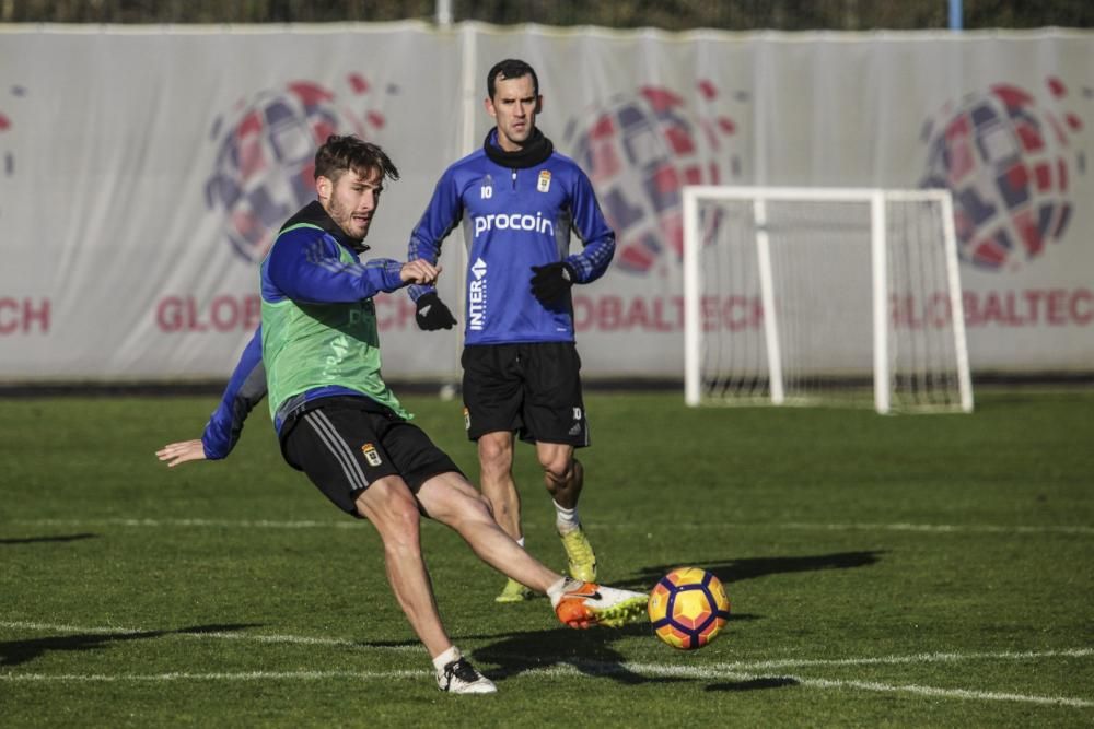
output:
[[[474,344],[464,348],[467,437],[516,432],[528,443],[589,445],[581,399],[581,357],[573,342]]]

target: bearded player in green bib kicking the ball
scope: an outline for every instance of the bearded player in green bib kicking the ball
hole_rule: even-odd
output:
[[[380,532],[388,581],[433,659],[440,689],[492,693],[497,687],[441,623],[421,554],[422,515],[454,529],[502,574],[545,592],[571,627],[640,621],[648,596],[569,579],[533,558],[498,526],[452,459],[408,422],[384,384],[372,297],[431,284],[441,272],[423,260],[359,262],[385,178],[398,179],[398,171],[375,144],[330,137],[318,149],[318,201],[284,224],[263,261],[261,327],[220,408],[201,440],[170,444],[156,456],[171,467],[223,458],[249,408],[268,393],[286,461]]]

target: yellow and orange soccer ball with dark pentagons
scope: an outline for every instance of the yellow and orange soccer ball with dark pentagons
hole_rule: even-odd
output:
[[[650,593],[650,622],[657,637],[680,650],[711,640],[730,619],[730,599],[722,580],[699,567],[677,567]]]

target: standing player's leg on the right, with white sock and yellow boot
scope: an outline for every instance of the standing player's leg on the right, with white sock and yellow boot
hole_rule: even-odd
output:
[[[585,471],[573,457],[573,446],[567,444],[537,443],[536,456],[544,468],[544,484],[555,499],[555,526],[566,549],[570,574],[574,579],[592,583],[596,579],[596,554],[578,518]]]

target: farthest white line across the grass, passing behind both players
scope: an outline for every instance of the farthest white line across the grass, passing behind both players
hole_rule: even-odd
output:
[[[354,529],[358,521],[275,521],[268,519],[13,519],[10,524],[32,527],[179,527],[179,528],[230,528],[230,529]],[[637,524],[597,524],[603,529],[639,529]],[[536,525],[529,525],[535,529]],[[673,529],[790,529],[817,531],[908,531],[927,533],[988,533],[988,534],[1094,534],[1094,527],[1044,525],[1001,526],[990,524],[785,524],[726,521],[674,522]]]

